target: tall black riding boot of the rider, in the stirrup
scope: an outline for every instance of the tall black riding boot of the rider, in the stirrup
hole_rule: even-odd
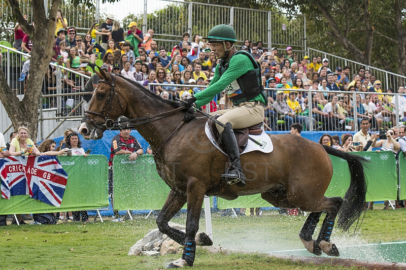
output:
[[[245,187],[245,175],[241,168],[240,151],[238,149],[237,140],[231,128],[231,123],[226,123],[226,127],[222,133],[222,141],[225,146],[225,151],[230,160],[230,166],[221,176],[221,180],[226,181],[228,185],[236,184],[238,187]]]

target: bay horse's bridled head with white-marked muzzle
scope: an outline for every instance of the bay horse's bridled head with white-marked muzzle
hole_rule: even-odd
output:
[[[87,140],[103,138],[103,132],[113,127],[114,121],[124,114],[127,107],[126,97],[120,93],[122,91],[117,85],[124,83],[124,80],[120,81],[115,75],[101,69],[96,74],[100,80],[79,127],[79,133]]]

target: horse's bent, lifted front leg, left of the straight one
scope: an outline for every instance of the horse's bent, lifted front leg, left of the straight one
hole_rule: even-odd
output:
[[[171,190],[162,207],[162,211],[159,212],[156,219],[156,224],[158,225],[159,230],[181,245],[185,244],[186,234],[177,228],[169,226],[168,222],[185,204],[186,197]]]

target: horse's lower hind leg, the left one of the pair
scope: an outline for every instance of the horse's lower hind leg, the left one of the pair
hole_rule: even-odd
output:
[[[303,242],[304,247],[317,256],[321,255],[321,249],[316,240],[313,239],[313,233],[317,223],[319,223],[321,213],[322,212],[311,212],[299,233],[300,240]]]

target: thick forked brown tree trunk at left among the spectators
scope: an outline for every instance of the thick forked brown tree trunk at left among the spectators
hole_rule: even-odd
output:
[[[22,125],[26,126],[30,130],[29,137],[36,140],[39,122],[38,109],[41,104],[40,97],[44,84],[44,76],[48,71],[49,61],[52,56],[56,27],[55,17],[59,1],[52,0],[51,9],[49,10],[50,19],[48,19],[45,12],[44,1],[32,0],[32,14],[35,28],[32,28],[26,23],[20,12],[17,1],[7,1],[11,6],[14,19],[29,33],[29,37],[32,41],[32,50],[29,77],[27,79],[23,100],[20,102],[7,85],[3,72],[0,74],[0,99],[13,123],[14,129]]]

